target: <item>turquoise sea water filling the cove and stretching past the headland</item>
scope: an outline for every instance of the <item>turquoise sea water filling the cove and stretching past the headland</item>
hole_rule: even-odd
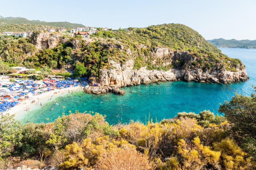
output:
[[[105,94],[90,95],[83,92],[56,99],[59,105],[50,102],[45,108],[31,110],[20,117],[20,121],[47,122],[53,121],[64,112],[68,114],[75,110],[80,112],[94,111],[107,115],[109,124],[118,121],[129,122],[140,120],[145,122],[149,114],[153,120],[171,118],[181,111],[199,113],[210,110],[218,113],[219,103],[230,100],[234,93],[250,95],[252,85],[256,85],[256,49],[220,48],[224,54],[232,58],[239,58],[246,66],[250,79],[245,82],[232,84],[199,83],[193,81],[159,82],[140,86],[123,88],[124,96]],[[80,96],[81,95],[81,96]],[[53,108],[54,110],[51,110]],[[119,116],[117,116],[119,114]]]

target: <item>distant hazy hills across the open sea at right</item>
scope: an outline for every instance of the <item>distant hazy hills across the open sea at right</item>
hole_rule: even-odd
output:
[[[236,40],[236,39],[212,39],[207,40],[217,47],[228,47],[228,48],[256,48],[256,40]]]

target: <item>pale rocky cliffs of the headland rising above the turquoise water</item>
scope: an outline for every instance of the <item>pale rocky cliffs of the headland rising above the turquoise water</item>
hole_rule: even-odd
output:
[[[153,62],[156,59],[162,59],[169,56],[169,60],[164,60],[170,64],[173,60],[196,60],[189,52],[186,51],[169,51],[168,48],[156,47],[153,49]],[[99,83],[101,86],[124,87],[139,84],[147,84],[155,81],[201,81],[215,83],[230,83],[234,81],[245,81],[248,79],[245,69],[240,66],[237,72],[227,71],[224,68],[212,68],[202,70],[198,67],[193,68],[172,68],[168,71],[147,70],[141,67],[139,70],[133,69],[134,61],[128,60],[124,64],[109,61],[110,69],[100,69]]]

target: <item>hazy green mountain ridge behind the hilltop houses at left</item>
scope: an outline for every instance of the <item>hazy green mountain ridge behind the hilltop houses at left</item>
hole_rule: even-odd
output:
[[[0,16],[0,32],[16,32],[16,31],[32,31],[38,28],[75,28],[76,26],[84,26],[70,22],[45,22],[40,20],[28,20],[22,17],[6,17]]]

